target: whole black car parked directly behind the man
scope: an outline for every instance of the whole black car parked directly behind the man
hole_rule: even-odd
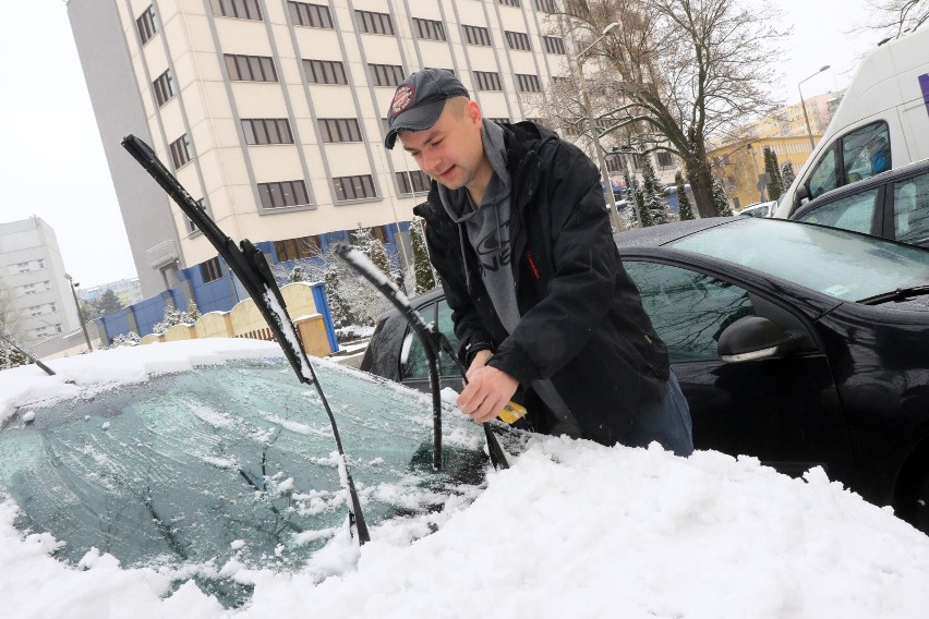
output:
[[[698,449],[792,474],[823,466],[929,531],[929,251],[753,217],[615,239],[667,343]],[[451,336],[441,291],[414,303]],[[399,315],[383,315],[362,368],[427,389],[417,342],[401,362],[407,335]],[[460,387],[450,365],[443,374]]]

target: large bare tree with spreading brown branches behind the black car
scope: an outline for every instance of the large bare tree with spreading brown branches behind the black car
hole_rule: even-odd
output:
[[[556,17],[579,46],[596,40],[608,24],[620,24],[586,54],[602,60],[600,71],[592,71],[589,60],[584,63],[588,89],[598,100],[592,104],[596,125],[602,135],[619,132],[625,135],[620,144],[640,151],[680,157],[697,210],[714,216],[708,138],[727,136],[780,105],[768,87],[775,77],[774,46],[785,33],[771,26],[777,17],[771,5],[761,10],[747,0],[566,0]],[[566,93],[570,89],[577,87],[559,85],[564,98],[553,92],[553,99],[568,101],[568,114],[581,119],[577,98]]]

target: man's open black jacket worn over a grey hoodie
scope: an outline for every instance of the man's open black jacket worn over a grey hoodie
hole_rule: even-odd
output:
[[[467,231],[459,233],[435,182],[429,202],[414,209],[426,220],[461,359],[468,365],[475,352],[490,349],[490,365],[523,388],[551,378],[587,438],[624,442],[640,412],[664,392],[667,349],[619,260],[591,160],[533,123],[504,129],[521,315],[511,335],[484,289]]]

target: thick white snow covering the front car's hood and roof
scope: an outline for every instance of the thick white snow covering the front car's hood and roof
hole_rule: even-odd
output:
[[[0,418],[17,402],[73,395],[68,379],[131,381],[269,347],[201,340],[60,360],[57,377],[0,372]],[[929,608],[929,537],[819,470],[792,480],[715,452],[541,439],[412,545],[375,529],[360,551],[337,536],[297,574],[230,562],[226,573],[255,585],[234,610],[193,582],[165,596],[166,576],[108,556],[65,567],[48,556],[48,535],[13,529],[14,513],[0,503],[4,618],[922,619]],[[323,571],[338,575],[317,582]]]

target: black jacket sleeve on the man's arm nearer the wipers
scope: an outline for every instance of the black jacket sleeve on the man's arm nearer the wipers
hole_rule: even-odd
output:
[[[417,207],[418,215],[425,216],[432,204]],[[435,221],[425,217],[426,246],[430,260],[442,280],[445,300],[451,308],[451,321],[455,324],[455,335],[458,338],[458,359],[468,367],[474,355],[482,350],[493,350],[493,341],[484,328],[481,316],[468,292],[464,263],[461,256],[460,239],[446,239],[437,230]]]

